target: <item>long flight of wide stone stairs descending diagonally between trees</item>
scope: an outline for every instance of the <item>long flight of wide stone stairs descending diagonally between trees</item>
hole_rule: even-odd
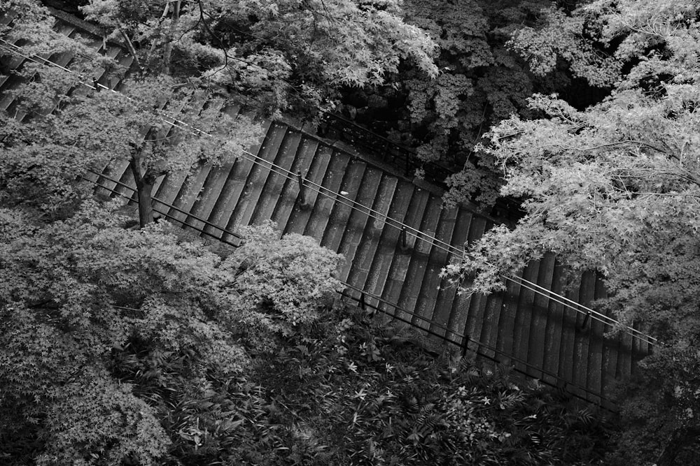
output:
[[[64,22],[57,28],[64,34],[76,32]],[[116,46],[105,52],[130,63]],[[70,66],[69,57],[46,58]],[[21,65],[22,59],[3,61],[6,68]],[[13,75],[0,80],[0,110],[12,111],[6,91],[17,84]],[[248,110],[231,105],[226,111],[235,116]],[[605,324],[517,280],[507,281],[507,291],[490,296],[460,293],[440,277],[440,270],[458,261],[463,247],[478,240],[493,219],[470,206],[444,207],[433,191],[332,141],[283,122],[261,123],[265,135],[250,147],[250,155],[160,179],[153,191],[157,210],[185,228],[231,244],[239,241],[236,232],[242,226],[268,220],[276,222],[280,234],[312,236],[345,256],[339,278],[365,292],[363,303],[465,351],[514,365],[550,384],[567,385],[591,402],[605,404],[611,382],[629,376],[633,361],[650,351],[649,344],[626,333],[605,337],[610,330]],[[296,173],[302,174],[303,187]],[[125,163],[112,163],[92,180],[106,193],[134,194]],[[520,276],[582,305],[605,297],[601,280],[592,272],[564,289],[563,268],[551,254],[530,263]]]

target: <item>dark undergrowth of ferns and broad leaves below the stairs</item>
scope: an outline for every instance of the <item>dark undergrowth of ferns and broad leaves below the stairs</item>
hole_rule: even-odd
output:
[[[601,417],[506,367],[429,351],[361,312],[337,319],[335,335],[297,335],[257,365],[284,422],[323,446],[309,464],[595,464],[608,448]]]

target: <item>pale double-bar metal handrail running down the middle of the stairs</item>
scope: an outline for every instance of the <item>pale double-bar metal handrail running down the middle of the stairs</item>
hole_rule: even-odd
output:
[[[85,82],[85,81],[82,80],[82,79],[85,79],[85,78],[84,78],[83,75],[81,75],[80,73],[76,73],[75,71],[72,71],[72,70],[69,69],[69,68],[65,68],[64,66],[60,66],[59,64],[55,64],[53,61],[50,61],[50,60],[48,60],[48,59],[44,59],[43,57],[36,57],[37,59],[41,59],[41,61],[38,61],[37,59],[35,59],[35,58],[33,58],[33,57],[27,57],[27,55],[22,54],[21,52],[19,52],[20,48],[19,48],[18,46],[14,45],[14,44],[12,44],[12,43],[8,43],[8,41],[5,41],[4,39],[1,39],[1,38],[0,38],[0,42],[6,43],[6,44],[10,45],[10,48],[8,48],[8,47],[3,47],[3,45],[1,45],[1,44],[0,44],[0,47],[5,48],[6,50],[10,50],[11,52],[15,52],[15,53],[17,53],[17,54],[20,54],[20,56],[25,57],[26,59],[29,59],[29,60],[31,60],[31,61],[34,61],[34,62],[36,62],[36,63],[38,63],[38,64],[43,65],[43,66],[56,66],[56,67],[58,67],[58,68],[60,68],[60,69],[62,69],[62,70],[64,70],[64,71],[66,71],[66,72],[68,72],[68,73],[76,74],[76,75],[78,76],[78,78],[81,79],[81,80],[78,80],[78,83],[79,83],[80,85],[84,85],[85,87],[87,87],[87,88],[89,88],[89,89],[92,89],[92,90],[95,90],[95,91],[98,91],[99,89],[106,89],[106,90],[109,91],[109,92],[114,92],[114,93],[116,93],[116,94],[120,94],[120,95],[123,96],[123,94],[121,94],[120,92],[116,91],[115,89],[110,89],[109,87],[106,87],[105,85],[102,85],[102,84],[100,84],[99,82],[92,82],[92,83]],[[125,97],[126,99],[130,100],[130,101],[132,100],[132,99],[126,97],[126,96],[124,96],[124,97]],[[202,135],[202,136],[209,136],[209,137],[212,136],[211,134],[207,133],[206,131],[202,131],[201,129],[197,129],[195,126],[192,126],[192,125],[188,124],[187,122],[183,122],[181,119],[178,119],[178,118],[176,118],[176,117],[173,117],[172,115],[167,114],[167,112],[165,112],[164,110],[161,110],[159,113],[160,113],[160,116],[161,116],[163,119],[165,119],[164,121],[168,122],[168,123],[171,124],[172,126],[176,126],[176,127],[180,128],[180,129],[185,129],[185,130],[187,130],[187,131],[193,131],[193,132],[195,132],[195,133],[197,133],[197,134],[200,134],[200,135]],[[295,177],[295,178],[297,177],[296,174],[290,172],[289,170],[286,170],[286,168],[277,166],[274,162],[270,162],[270,161],[267,161],[267,160],[265,160],[265,159],[262,159],[262,157],[258,156],[257,154],[253,154],[253,153],[251,153],[251,152],[248,152],[247,150],[244,150],[243,152],[244,152],[244,155],[245,155],[245,156],[252,157],[251,160],[253,160],[253,161],[258,161],[258,160],[260,160],[260,161],[262,161],[262,162],[260,162],[260,163],[266,163],[266,164],[269,165],[271,168],[274,167],[274,168],[276,168],[277,170],[281,170],[281,171],[278,172],[278,173],[281,174],[281,175],[283,175],[283,176],[292,175],[292,176]],[[463,249],[458,249],[457,247],[454,247],[454,246],[452,246],[452,245],[449,245],[449,243],[444,242],[444,241],[442,241],[442,240],[438,240],[438,239],[435,238],[434,236],[431,236],[431,235],[428,235],[428,234],[426,234],[426,233],[423,233],[423,232],[419,231],[418,229],[416,229],[416,228],[414,228],[414,227],[412,227],[412,226],[409,226],[409,225],[407,225],[407,224],[404,224],[404,223],[401,222],[401,221],[398,221],[398,220],[395,220],[395,219],[391,219],[391,217],[388,217],[388,215],[381,214],[381,212],[377,212],[377,210],[373,210],[371,207],[366,207],[366,206],[364,206],[364,205],[361,205],[361,204],[359,204],[359,203],[356,203],[356,201],[353,201],[351,198],[348,198],[348,197],[346,197],[346,196],[343,196],[342,194],[334,193],[334,192],[331,191],[330,189],[325,188],[325,187],[321,186],[320,184],[316,184],[316,183],[314,183],[314,182],[311,182],[310,180],[306,180],[306,181],[307,181],[309,184],[311,184],[312,186],[316,187],[316,189],[318,189],[318,191],[317,191],[318,194],[323,194],[323,195],[328,196],[328,197],[331,197],[331,196],[332,196],[332,197],[334,197],[336,200],[337,200],[337,199],[344,199],[344,201],[348,201],[348,203],[344,203],[344,201],[340,201],[340,202],[341,202],[341,203],[344,203],[344,205],[346,205],[346,206],[351,207],[351,209],[353,209],[353,210],[358,210],[358,211],[360,211],[360,212],[361,212],[362,210],[365,210],[366,212],[363,212],[363,213],[367,214],[369,217],[374,218],[374,219],[379,219],[379,220],[381,220],[381,221],[385,221],[387,224],[390,224],[391,226],[393,226],[394,228],[398,228],[399,230],[403,230],[403,229],[405,228],[406,231],[411,231],[411,233],[413,233],[413,234],[416,236],[416,238],[419,238],[419,235],[420,235],[420,236],[423,236],[423,240],[430,242],[431,244],[433,244],[435,247],[437,247],[437,248],[439,248],[439,249],[442,249],[444,252],[447,252],[448,255],[449,255],[449,254],[454,254],[454,255],[457,255],[457,256],[463,256],[463,254],[464,254],[464,250],[463,250]],[[321,192],[321,190],[328,191],[328,193],[326,193],[326,192]],[[329,193],[330,193],[330,194],[329,194]],[[362,210],[360,210],[360,208],[358,208],[358,207],[362,207]],[[389,221],[389,220],[391,220],[391,221]],[[510,279],[510,280],[514,280],[513,277],[505,277],[505,278],[506,278],[506,279]],[[526,282],[527,284],[533,285],[532,282],[528,282],[528,281],[526,281],[525,279],[521,279],[521,278],[519,278],[519,279],[522,280],[522,282]],[[536,285],[536,284],[534,284],[534,285],[535,285],[535,286],[538,286],[538,285]],[[533,289],[532,291],[535,292],[535,293],[540,294],[541,296],[544,296],[544,297],[547,298],[547,299],[552,299],[552,296],[555,296],[556,298],[559,299],[558,301],[556,301],[557,303],[559,303],[559,304],[561,304],[561,305],[567,307],[568,309],[573,310],[573,311],[575,311],[575,312],[577,312],[577,313],[579,313],[579,314],[583,314],[583,315],[584,315],[584,319],[587,319],[587,318],[591,318],[591,317],[593,317],[593,316],[596,316],[596,318],[605,319],[606,321],[609,321],[609,322],[610,322],[610,325],[614,325],[614,326],[617,326],[617,328],[623,329],[626,333],[629,333],[629,335],[631,335],[632,337],[635,337],[635,338],[638,338],[638,339],[640,339],[640,340],[643,340],[643,341],[645,341],[645,342],[647,342],[647,343],[649,343],[649,344],[654,344],[654,342],[657,342],[657,340],[656,340],[654,337],[651,337],[650,335],[645,335],[644,333],[641,333],[641,332],[640,332],[639,330],[637,330],[636,328],[632,328],[632,327],[630,327],[630,326],[625,326],[623,323],[621,323],[621,322],[619,322],[619,321],[616,321],[615,319],[612,319],[612,318],[610,318],[610,317],[608,317],[608,316],[605,316],[605,314],[602,314],[602,313],[600,313],[600,312],[597,312],[597,311],[595,311],[595,310],[593,310],[593,309],[591,309],[591,308],[589,308],[589,307],[587,307],[587,306],[581,305],[581,304],[579,304],[579,303],[576,303],[576,306],[572,306],[572,305],[566,304],[566,301],[568,300],[568,298],[566,298],[566,297],[564,297],[564,296],[561,296],[561,295],[559,295],[559,294],[557,294],[557,293],[554,293],[553,291],[548,291],[547,293],[542,293],[541,291],[538,291],[537,289]]]

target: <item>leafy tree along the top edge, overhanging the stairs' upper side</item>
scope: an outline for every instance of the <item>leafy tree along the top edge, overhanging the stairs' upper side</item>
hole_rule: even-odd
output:
[[[83,11],[123,39],[144,71],[198,74],[268,115],[331,105],[339,85],[382,84],[402,60],[437,75],[435,43],[402,21],[396,0],[91,0]]]

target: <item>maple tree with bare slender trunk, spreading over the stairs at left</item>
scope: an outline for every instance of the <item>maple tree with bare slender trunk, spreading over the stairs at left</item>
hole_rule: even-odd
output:
[[[41,22],[37,15],[43,15]],[[47,45],[41,42],[45,34],[53,53],[76,55],[71,62],[76,73],[90,70],[83,80],[90,74],[99,78],[94,73],[100,68],[106,68],[107,75],[124,72],[79,38],[52,31],[51,18],[37,6],[19,10],[14,21],[6,37],[28,38],[20,50],[26,56],[45,52]],[[41,34],[34,32],[35,25]],[[153,221],[151,196],[158,177],[235,159],[260,132],[250,119],[222,112],[226,102],[207,89],[165,75],[130,80],[118,94],[90,92],[80,85],[77,74],[38,63],[29,62],[16,73],[22,82],[13,90],[14,116],[23,116],[26,124],[3,129],[3,172],[15,201],[27,194],[35,198],[53,194],[48,203],[41,203],[45,209],[78,196],[71,185],[86,170],[125,161],[134,176],[139,219],[145,226]],[[3,119],[7,121],[7,116]],[[50,151],[45,150],[48,146]],[[22,173],[31,177],[19,176]],[[27,184],[34,186],[27,191]]]

